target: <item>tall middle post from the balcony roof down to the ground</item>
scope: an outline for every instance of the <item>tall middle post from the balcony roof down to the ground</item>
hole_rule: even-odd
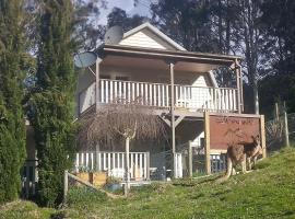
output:
[[[175,146],[175,114],[174,114],[174,64],[169,62],[169,70],[170,70],[170,128],[172,128],[172,148],[173,148],[173,169],[174,169],[174,177],[177,175],[177,166],[176,166],[176,146]]]

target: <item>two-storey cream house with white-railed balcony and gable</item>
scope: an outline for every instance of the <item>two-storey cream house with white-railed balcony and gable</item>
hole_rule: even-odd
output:
[[[116,97],[132,101],[141,96],[146,111],[153,108],[170,130],[165,142],[133,142],[130,168],[134,177],[135,169],[141,178],[149,178],[151,170],[170,169],[167,151],[176,154],[189,141],[200,148],[203,112],[243,112],[240,57],[188,51],[150,23],[125,33],[116,45],[103,44],[95,53],[96,62],[79,77],[78,119]],[[219,87],[213,71],[221,67],[233,71],[235,88]],[[123,169],[122,152],[123,147],[116,142],[95,149],[82,143],[75,164],[108,171]],[[175,162],[181,176],[181,158]]]

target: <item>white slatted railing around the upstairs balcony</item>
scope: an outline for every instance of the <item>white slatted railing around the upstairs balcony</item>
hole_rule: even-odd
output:
[[[99,103],[114,103],[117,99],[142,105],[166,108],[170,103],[170,85],[133,81],[99,80]],[[189,111],[237,111],[237,89],[175,85],[175,106]],[[95,104],[95,83],[79,95],[80,113]]]

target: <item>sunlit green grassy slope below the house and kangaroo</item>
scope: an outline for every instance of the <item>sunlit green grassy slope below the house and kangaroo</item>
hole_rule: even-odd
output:
[[[134,191],[128,199],[86,201],[81,198],[70,204],[62,215],[68,218],[295,218],[295,150],[275,153],[257,168],[223,184],[216,184],[212,176],[153,184]],[[8,206],[4,211],[0,207],[0,211],[9,214],[15,206],[19,205]],[[26,214],[44,218],[50,211],[31,208]]]

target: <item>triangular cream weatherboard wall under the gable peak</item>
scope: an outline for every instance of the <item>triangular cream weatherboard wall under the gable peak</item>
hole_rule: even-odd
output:
[[[126,38],[123,38],[119,45],[123,46],[135,46],[144,48],[156,48],[156,49],[168,49],[176,50],[174,47],[168,45],[166,42],[161,39],[158,36],[153,34],[148,28],[139,31]]]

